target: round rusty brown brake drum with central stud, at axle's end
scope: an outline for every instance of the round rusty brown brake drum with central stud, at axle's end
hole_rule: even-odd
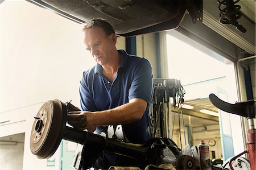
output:
[[[34,118],[30,150],[39,159],[47,159],[55,153],[63,138],[67,108],[59,99],[46,101]]]

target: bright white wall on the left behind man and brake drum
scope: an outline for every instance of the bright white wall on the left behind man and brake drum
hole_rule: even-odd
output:
[[[94,64],[82,26],[27,1],[0,7],[0,137],[26,132],[23,169],[59,169],[59,155],[55,167],[47,167],[47,160],[31,154],[30,132],[43,102],[58,98],[80,106],[79,81]]]

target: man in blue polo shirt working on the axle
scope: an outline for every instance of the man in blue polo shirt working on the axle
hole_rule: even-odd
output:
[[[102,131],[108,134],[110,125],[122,125],[125,136],[122,140],[146,142],[151,138],[148,127],[153,93],[150,62],[117,50],[117,35],[105,19],[91,20],[82,31],[86,49],[97,63],[83,73],[79,89],[82,111],[69,112],[69,125],[94,134]],[[131,164],[123,157],[104,152],[94,168]]]

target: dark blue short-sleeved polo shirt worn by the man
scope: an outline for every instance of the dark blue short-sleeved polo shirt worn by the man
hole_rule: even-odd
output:
[[[150,62],[143,57],[123,55],[113,82],[102,73],[100,64],[85,71],[80,81],[81,108],[84,111],[102,111],[113,109],[128,103],[130,99],[141,98],[148,103],[143,117],[138,121],[123,125],[123,131],[129,142],[143,143],[150,139],[148,131],[148,111],[153,92],[153,74]],[[101,127],[94,132],[99,134]]]

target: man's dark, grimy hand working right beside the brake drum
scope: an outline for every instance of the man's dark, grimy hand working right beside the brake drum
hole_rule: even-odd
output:
[[[93,132],[96,126],[88,126],[88,114],[92,114],[89,111],[69,111],[68,112],[68,124],[76,128],[77,130],[85,130]]]

